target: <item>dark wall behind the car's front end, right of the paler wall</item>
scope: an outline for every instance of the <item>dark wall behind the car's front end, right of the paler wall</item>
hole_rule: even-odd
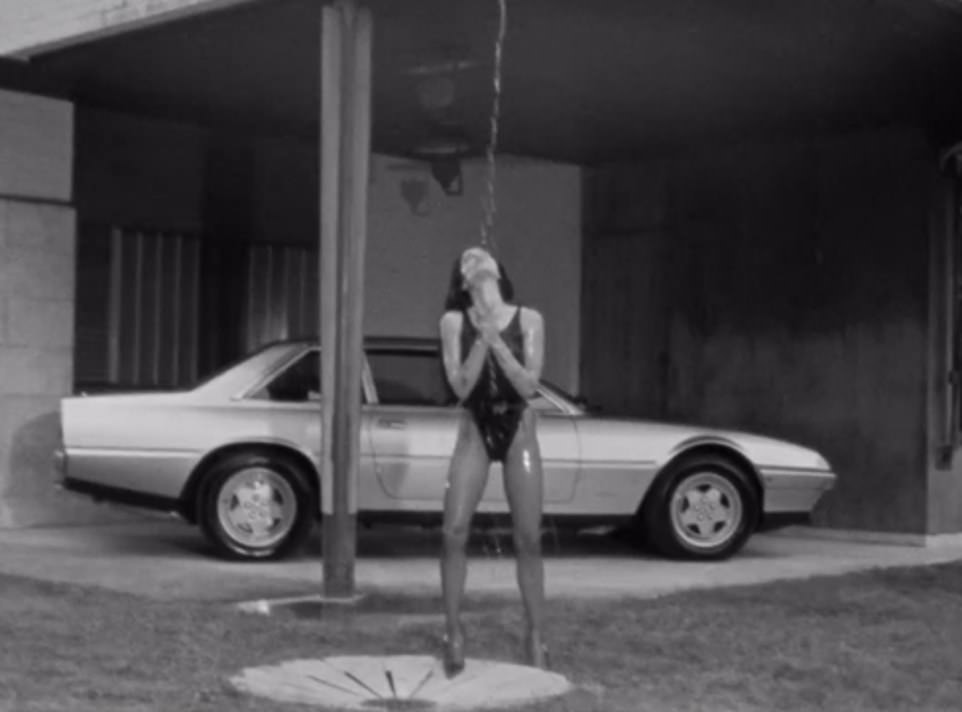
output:
[[[625,269],[662,273],[667,316],[598,315],[634,332],[623,340],[639,360],[661,352],[665,383],[633,387],[664,389],[666,417],[821,450],[839,483],[820,524],[926,530],[934,170],[921,135],[893,130],[706,151],[595,180],[616,183],[596,203],[595,239],[634,230],[660,245]],[[584,349],[589,393],[595,374],[632,368],[625,349]]]

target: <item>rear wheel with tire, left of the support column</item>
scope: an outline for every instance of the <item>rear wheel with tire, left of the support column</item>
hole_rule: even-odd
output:
[[[199,523],[221,556],[278,559],[300,547],[313,524],[311,490],[297,463],[245,453],[217,463],[199,492]]]

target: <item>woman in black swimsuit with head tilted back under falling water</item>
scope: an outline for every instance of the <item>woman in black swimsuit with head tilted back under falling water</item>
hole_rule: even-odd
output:
[[[527,662],[546,667],[543,476],[535,414],[527,404],[541,378],[544,323],[537,311],[512,304],[513,292],[503,267],[487,250],[466,250],[455,262],[440,323],[445,373],[465,407],[444,498],[441,587],[449,677],[464,668],[460,612],[467,577],[465,546],[492,462],[501,462],[504,469],[527,622]]]

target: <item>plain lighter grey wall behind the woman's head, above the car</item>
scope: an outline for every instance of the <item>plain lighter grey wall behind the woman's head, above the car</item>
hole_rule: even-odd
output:
[[[376,157],[372,166],[365,329],[435,336],[453,261],[481,238],[483,162],[464,167],[464,194],[445,196],[426,170]],[[425,215],[401,194],[428,187]],[[499,159],[494,242],[517,299],[544,314],[545,376],[578,387],[581,299],[581,171],[576,166]]]

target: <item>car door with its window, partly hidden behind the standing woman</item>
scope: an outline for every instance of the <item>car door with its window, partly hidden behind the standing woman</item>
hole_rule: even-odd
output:
[[[370,406],[375,472],[385,492],[405,506],[438,507],[463,410],[447,386],[436,349],[371,348],[368,362],[377,403]],[[532,401],[545,471],[545,502],[568,502],[580,469],[570,416],[544,396]],[[506,508],[500,464],[491,468],[483,510]]]

